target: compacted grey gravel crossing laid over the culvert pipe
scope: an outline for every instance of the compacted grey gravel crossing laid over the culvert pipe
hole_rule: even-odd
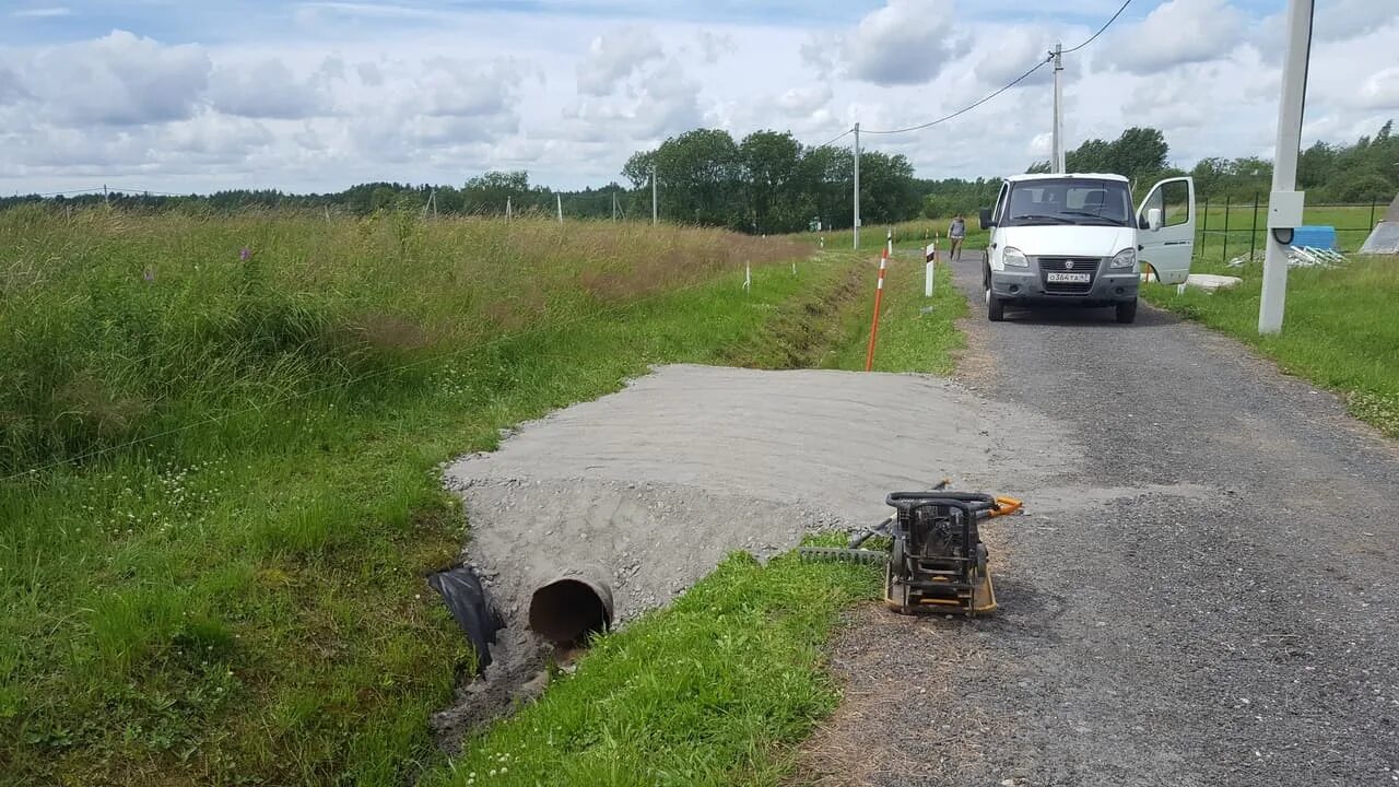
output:
[[[534,688],[544,648],[525,630],[529,594],[571,570],[610,583],[625,622],[733,550],[765,557],[810,531],[877,522],[888,492],[951,478],[1028,496],[1079,455],[1049,419],[923,375],[672,365],[523,424],[446,471],[467,559],[509,627],[487,679],[438,727],[450,745]]]

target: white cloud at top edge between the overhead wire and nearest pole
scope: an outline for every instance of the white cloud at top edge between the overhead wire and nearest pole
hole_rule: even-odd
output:
[[[1219,60],[1240,45],[1244,24],[1228,0],[1167,0],[1142,22],[1104,36],[1104,60],[1133,74]]]

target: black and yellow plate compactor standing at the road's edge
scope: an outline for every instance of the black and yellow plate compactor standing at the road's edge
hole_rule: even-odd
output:
[[[986,570],[981,522],[1020,511],[1011,497],[949,492],[894,492],[887,520],[853,539],[846,549],[802,548],[804,560],[884,564],[884,602],[904,615],[918,609],[978,615],[996,609],[996,591]],[[888,550],[862,549],[872,536],[888,539]]]

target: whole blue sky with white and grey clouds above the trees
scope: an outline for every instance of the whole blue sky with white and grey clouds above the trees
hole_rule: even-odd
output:
[[[0,0],[0,193],[620,179],[667,136],[820,144],[967,105],[1121,0]],[[1072,10],[1066,10],[1072,8]],[[1135,0],[1067,62],[1070,146],[1272,155],[1286,0]],[[1305,141],[1399,116],[1399,1],[1316,0]],[[1048,158],[1051,71],[919,133],[923,176]],[[849,137],[842,141],[848,143]]]

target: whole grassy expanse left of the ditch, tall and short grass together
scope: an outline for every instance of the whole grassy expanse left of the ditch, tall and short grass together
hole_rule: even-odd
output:
[[[804,357],[818,332],[775,318],[851,279],[644,225],[24,209],[0,235],[17,784],[413,780],[473,658],[422,581],[464,538],[438,464],[649,363]]]

